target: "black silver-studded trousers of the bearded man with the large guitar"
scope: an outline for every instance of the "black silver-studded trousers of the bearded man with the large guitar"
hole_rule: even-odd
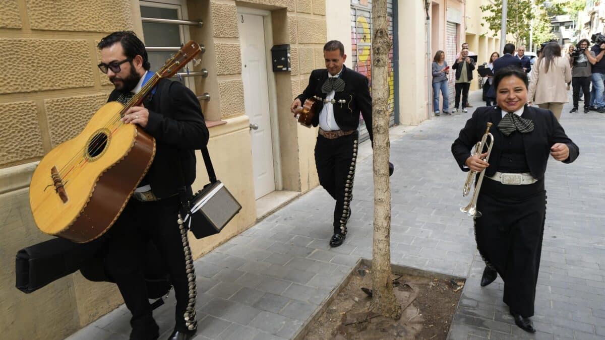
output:
[[[131,198],[106,235],[107,270],[132,313],[132,338],[145,339],[157,332],[143,276],[149,239],[169,269],[177,299],[175,329],[188,333],[195,329],[195,272],[186,229],[179,228],[178,196],[149,202]]]

